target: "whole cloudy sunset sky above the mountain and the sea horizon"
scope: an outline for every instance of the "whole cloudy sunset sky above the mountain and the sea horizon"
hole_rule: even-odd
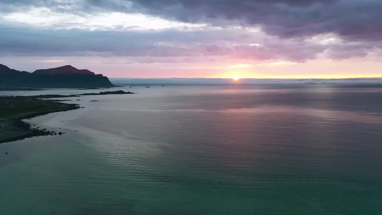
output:
[[[0,64],[112,78],[382,77],[382,0],[0,0]]]

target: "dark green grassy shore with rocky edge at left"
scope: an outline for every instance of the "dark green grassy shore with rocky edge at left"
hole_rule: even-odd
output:
[[[0,97],[0,143],[36,136],[57,135],[54,131],[32,128],[31,124],[22,120],[78,108],[77,104],[41,100],[31,96]]]

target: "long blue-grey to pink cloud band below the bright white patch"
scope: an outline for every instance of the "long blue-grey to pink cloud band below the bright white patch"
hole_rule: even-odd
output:
[[[240,42],[237,38],[241,38]],[[250,46],[253,42],[261,46]],[[380,48],[382,45],[372,42],[319,44],[302,39],[280,40],[245,29],[87,31],[0,26],[0,55],[3,56],[229,56],[305,62],[322,53],[333,59],[363,58],[369,51]]]

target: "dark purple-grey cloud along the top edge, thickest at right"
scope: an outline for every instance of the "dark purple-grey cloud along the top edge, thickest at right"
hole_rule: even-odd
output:
[[[0,10],[44,6],[73,13],[140,12],[219,26],[235,21],[261,26],[280,38],[335,33],[347,41],[382,40],[381,0],[0,0],[0,4]]]

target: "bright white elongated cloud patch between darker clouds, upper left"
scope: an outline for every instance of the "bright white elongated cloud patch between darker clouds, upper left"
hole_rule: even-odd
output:
[[[47,19],[46,17],[49,17]],[[32,26],[48,26],[56,29],[165,29],[197,28],[202,25],[169,21],[137,13],[99,12],[97,14],[61,13],[50,8],[31,8],[28,11],[5,13],[2,20],[8,23],[24,23]]]

